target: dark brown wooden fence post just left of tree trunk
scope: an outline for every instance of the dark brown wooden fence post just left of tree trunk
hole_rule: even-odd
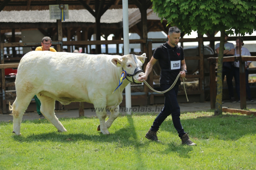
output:
[[[210,63],[210,103],[211,109],[215,109],[216,102],[216,75],[215,75],[215,63]]]

